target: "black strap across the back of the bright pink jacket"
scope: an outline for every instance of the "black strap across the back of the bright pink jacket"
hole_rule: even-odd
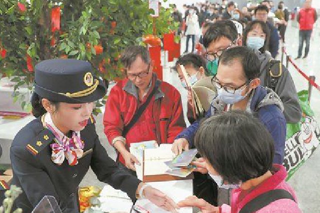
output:
[[[255,212],[278,199],[291,199],[295,202],[293,196],[287,190],[273,189],[258,195],[254,199],[251,199],[240,209],[239,213]]]

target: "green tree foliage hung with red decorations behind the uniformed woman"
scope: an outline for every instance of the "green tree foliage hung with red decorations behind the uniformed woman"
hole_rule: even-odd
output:
[[[25,5],[21,11],[18,2]],[[60,30],[51,32],[51,9],[60,6]],[[160,9],[160,17],[149,15],[147,0],[1,0],[0,1],[0,77],[16,76],[15,96],[21,86],[32,88],[31,67],[49,58],[88,60],[104,79],[121,76],[119,54],[128,45],[138,44],[141,36],[152,33],[155,21],[159,37],[177,24],[170,9]],[[51,41],[54,41],[51,45]],[[103,52],[96,52],[101,46]],[[16,99],[20,99],[17,97]],[[24,107],[29,107],[23,103]],[[97,111],[98,112],[98,111]]]

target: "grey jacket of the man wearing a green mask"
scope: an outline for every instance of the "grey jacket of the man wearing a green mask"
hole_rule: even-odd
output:
[[[261,53],[259,51],[255,52],[260,60],[260,84],[262,86],[266,85],[266,72],[267,64],[270,59],[272,59],[271,55],[268,53]],[[280,97],[284,110],[283,114],[287,123],[296,123],[301,119],[302,111],[299,104],[299,100],[297,97],[296,89],[294,86],[294,82],[290,75],[290,72],[287,68],[282,64],[282,74],[278,79],[277,85],[275,87],[275,93]]]

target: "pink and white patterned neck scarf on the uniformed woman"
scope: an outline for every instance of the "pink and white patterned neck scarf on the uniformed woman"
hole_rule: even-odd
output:
[[[54,124],[49,113],[44,115],[44,127],[48,128],[55,136],[54,143],[50,144],[52,149],[51,159],[54,163],[61,165],[64,158],[69,165],[76,165],[78,158],[83,154],[83,142],[79,131],[72,131],[71,138],[64,135]]]

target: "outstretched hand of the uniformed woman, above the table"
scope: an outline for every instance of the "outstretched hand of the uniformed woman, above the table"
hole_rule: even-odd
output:
[[[159,206],[167,211],[177,213],[177,211],[175,210],[176,208],[178,208],[177,204],[165,193],[159,191],[158,189],[151,186],[146,186],[143,189],[143,194],[145,198],[150,200],[156,206]]]

